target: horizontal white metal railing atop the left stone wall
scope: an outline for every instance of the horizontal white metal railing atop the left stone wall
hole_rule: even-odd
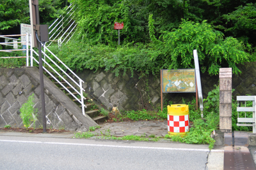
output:
[[[16,38],[9,38],[9,37],[15,37],[15,36],[26,36],[26,41],[20,41],[20,39],[16,39]],[[12,39],[13,42],[6,42],[6,40],[4,40],[4,43],[0,43],[0,45],[5,45],[5,46],[13,46],[13,49],[8,49],[8,50],[0,50],[0,52],[17,52],[17,51],[26,51],[26,56],[19,56],[19,57],[0,57],[0,59],[13,59],[13,58],[26,58],[26,66],[29,66],[29,41],[28,41],[28,36],[29,34],[17,34],[17,35],[1,35],[0,38],[4,38],[4,39]],[[26,45],[26,49],[18,49],[18,44],[25,44]]]

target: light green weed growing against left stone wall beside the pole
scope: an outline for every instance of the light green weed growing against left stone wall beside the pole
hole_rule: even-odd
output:
[[[24,127],[26,127],[27,129],[32,123],[35,128],[35,121],[37,120],[37,109],[33,108],[33,106],[35,105],[35,103],[33,102],[35,100],[34,95],[35,94],[29,96],[28,101],[22,104],[22,107],[20,108],[20,117],[23,120]]]

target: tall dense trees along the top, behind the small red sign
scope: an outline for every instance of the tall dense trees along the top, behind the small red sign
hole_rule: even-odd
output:
[[[113,29],[115,21],[124,22],[121,31],[124,41],[147,42],[148,16],[153,15],[156,20],[156,34],[161,31],[172,31],[178,28],[184,20],[202,22],[207,20],[217,29],[227,32],[235,38],[244,37],[253,43],[255,38],[252,33],[255,23],[255,1],[221,1],[221,0],[70,0],[77,4],[77,20],[81,37],[95,42],[113,43],[117,39],[117,31]],[[242,23],[241,23],[242,22]],[[254,24],[255,25],[255,24]],[[242,31],[246,29],[247,33]],[[236,32],[241,34],[236,34]]]

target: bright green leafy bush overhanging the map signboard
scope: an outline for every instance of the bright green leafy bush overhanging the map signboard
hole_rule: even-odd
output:
[[[154,20],[149,17],[149,27]],[[149,28],[150,38],[155,43],[156,52],[151,60],[161,62],[161,67],[168,69],[193,68],[193,50],[198,51],[198,60],[209,74],[218,74],[220,67],[232,67],[235,74],[241,73],[236,64],[248,62],[250,54],[236,38],[224,38],[204,20],[201,24],[182,20],[178,29],[163,31],[159,39],[154,36],[154,29]],[[202,69],[204,71],[204,69]]]

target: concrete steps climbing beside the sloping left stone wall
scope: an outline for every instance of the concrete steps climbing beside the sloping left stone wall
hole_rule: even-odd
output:
[[[51,69],[48,69],[51,70]],[[67,92],[67,90],[65,90],[65,88],[63,88],[56,80],[54,80],[54,78],[52,78],[52,76],[50,76],[49,74],[47,74],[46,72],[44,72],[44,74],[62,91],[64,92],[69,98],[70,98],[70,102],[74,102],[76,103],[80,108],[82,108],[81,104],[79,103],[79,101],[77,101],[76,99],[74,99],[74,97],[69,94]],[[56,76],[56,78],[58,78],[58,75],[52,73],[54,76]],[[72,94],[74,94],[77,98],[79,97],[79,94],[77,94],[77,92],[74,92],[74,90],[71,87],[68,87],[68,84],[65,81],[61,81],[61,83],[68,89],[70,90],[70,92],[72,92]],[[86,96],[84,96],[86,97]],[[80,97],[79,97],[80,98]],[[86,106],[86,108],[84,108],[84,111],[86,113],[86,115],[88,115],[89,117],[91,117],[97,124],[99,124],[100,122],[106,122],[106,120],[108,119],[107,116],[102,116],[100,115],[100,110],[99,107],[96,104],[93,103],[93,101],[91,101],[91,99],[89,99],[88,97],[86,97],[86,99],[84,100],[84,105]],[[82,114],[82,113],[81,113]]]

